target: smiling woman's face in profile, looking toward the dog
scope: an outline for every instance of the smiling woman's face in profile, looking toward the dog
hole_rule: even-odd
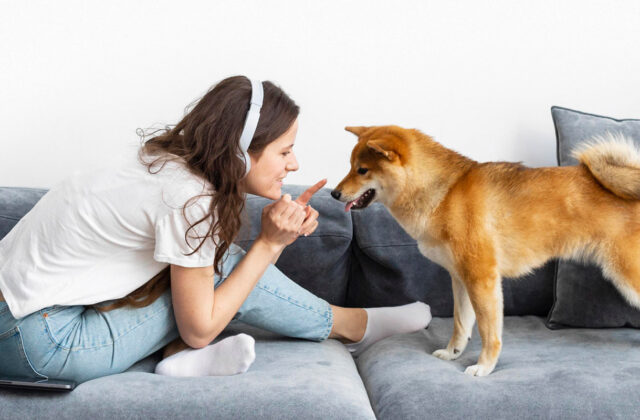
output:
[[[277,200],[282,195],[283,179],[298,170],[293,144],[298,133],[298,119],[280,137],[272,141],[261,153],[251,158],[251,169],[242,180],[243,192]]]

